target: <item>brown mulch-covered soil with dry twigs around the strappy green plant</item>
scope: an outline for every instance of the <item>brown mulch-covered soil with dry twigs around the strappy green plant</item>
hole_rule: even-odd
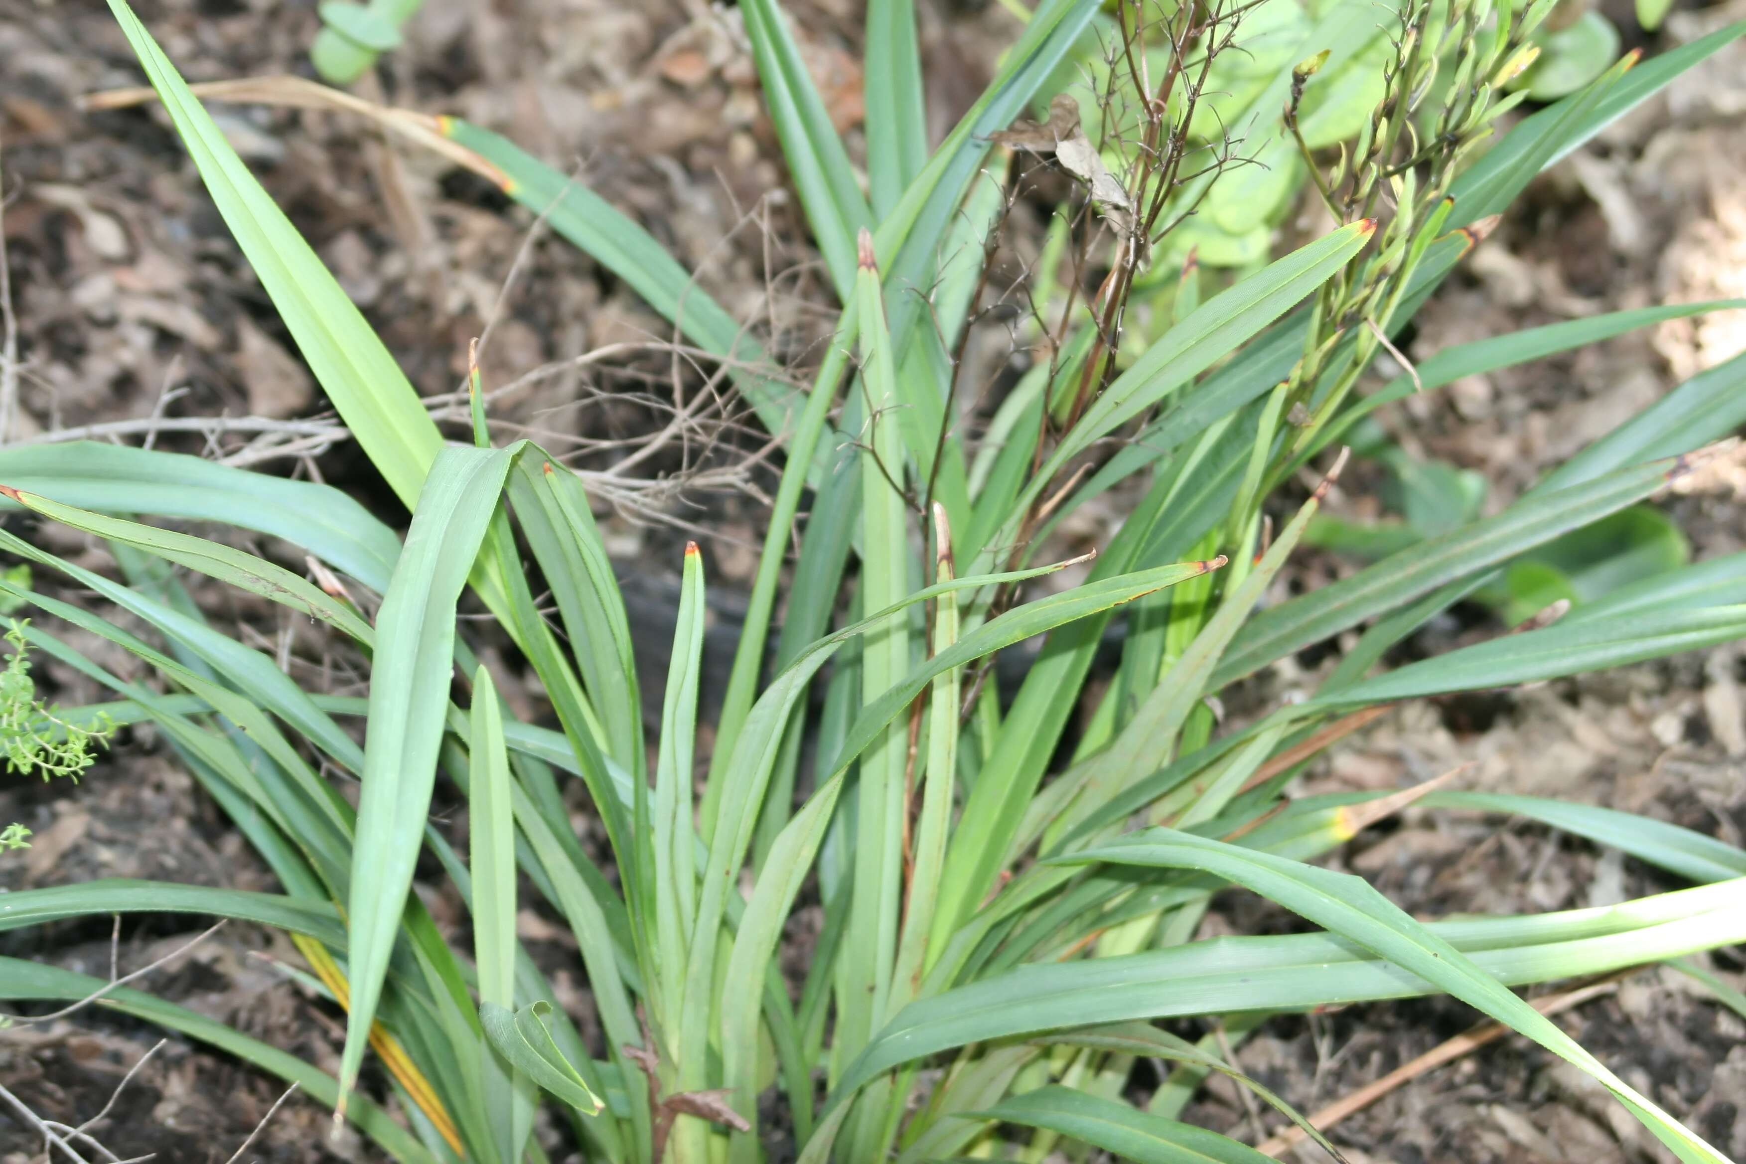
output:
[[[859,150],[861,5],[787,7],[831,117]],[[924,0],[918,7],[938,138],[974,99],[1016,24],[999,5]],[[152,0],[138,10],[192,80],[307,73],[306,45],[318,28],[309,0]],[[754,321],[779,354],[805,363],[829,323],[829,293],[815,255],[794,243],[803,237],[798,206],[735,16],[681,0],[430,0],[407,47],[386,58],[363,92],[459,113],[574,168],[700,270],[702,283]],[[1633,26],[1629,5],[1613,16]],[[1743,17],[1746,0],[1681,5],[1648,49]],[[24,356],[21,407],[0,438],[84,429],[136,443],[150,433],[161,448],[342,485],[402,524],[403,511],[321,412],[311,377],[161,112],[80,108],[82,94],[140,82],[107,7],[0,0],[0,190]],[[606,471],[653,433],[679,436],[627,473],[636,483],[609,496],[599,517],[620,569],[636,581],[627,597],[648,644],[660,644],[670,625],[679,546],[693,536],[705,541],[716,592],[711,658],[719,675],[773,473],[751,455],[756,440],[737,424],[737,407],[667,351],[670,328],[471,175],[384,145],[337,115],[237,105],[215,113],[435,407],[452,403],[466,342],[484,333],[487,384],[508,386],[494,400],[494,417],[576,468]],[[1722,297],[1746,297],[1741,44],[1538,180],[1425,309],[1407,356],[1601,311]],[[578,359],[608,347],[609,358]],[[1381,419],[1409,450],[1482,473],[1496,508],[1678,380],[1743,349],[1746,312],[1716,312],[1468,377]],[[676,384],[683,400],[707,400],[677,426]],[[464,408],[445,415],[459,435]],[[197,424],[203,417],[239,422]],[[1374,515],[1365,473],[1350,475],[1332,504],[1350,517]],[[1685,529],[1694,557],[1746,548],[1746,459],[1711,462],[1660,504]],[[1065,532],[1100,543],[1119,520],[1116,503],[1088,508]],[[28,529],[80,564],[112,567],[80,537],[24,527],[16,517],[7,527]],[[1304,555],[1287,585],[1313,586],[1350,569]],[[356,660],[293,644],[276,611],[218,588],[196,593],[257,646],[283,647],[293,668],[321,670],[335,691],[363,691]],[[1460,611],[1414,649],[1491,633],[1496,625],[1484,613]],[[136,674],[119,651],[93,653]],[[1289,695],[1325,665],[1287,663],[1250,696]],[[650,649],[643,672],[658,681],[658,649]],[[96,698],[58,665],[42,663],[38,677],[66,703]],[[1474,763],[1463,787],[1645,811],[1743,843],[1743,681],[1746,651],[1730,646],[1509,695],[1414,703],[1318,761],[1303,791],[1390,789]],[[506,695],[517,710],[540,710],[538,696],[519,682],[506,684]],[[0,890],[91,878],[276,888],[145,728],[119,733],[77,789],[9,777],[0,784],[0,822],[10,820],[35,836],[30,850],[0,860]],[[1332,864],[1367,876],[1418,916],[1564,909],[1676,888],[1666,874],[1543,827],[1423,810],[1367,832]],[[454,900],[435,890],[426,899],[440,923],[459,920]],[[1276,909],[1229,894],[1203,932],[1290,925]],[[143,916],[126,920],[113,941],[107,921],[61,923],[0,935],[0,953],[103,977],[112,965],[124,974],[150,965],[199,928],[194,918]],[[560,1002],[587,1021],[567,932],[529,909],[522,935],[553,969]],[[147,984],[332,1070],[342,1019],[283,965],[302,965],[283,937],[227,925],[154,970]],[[1706,965],[1736,984],[1746,972],[1737,951]],[[1701,988],[1673,972],[1643,972],[1557,1021],[1711,1143],[1746,1157],[1746,1021]],[[1236,1059],[1308,1112],[1472,1023],[1474,1012],[1449,1000],[1348,1007],[1273,1021],[1236,1049]],[[117,1094],[159,1038],[155,1028],[101,1007],[5,1030],[0,1087],[42,1119],[77,1126],[103,1113],[89,1131],[120,1159],[227,1161],[279,1089],[173,1035]],[[1144,1073],[1137,1085],[1149,1085]],[[1187,1119],[1254,1141],[1255,1113],[1219,1082]],[[1393,1091],[1332,1138],[1358,1164],[1671,1159],[1587,1077],[1519,1038],[1493,1042]],[[1311,1148],[1301,1154],[1316,1157]],[[0,1105],[0,1164],[37,1159],[40,1136]],[[244,1159],[372,1155],[349,1133],[330,1138],[327,1112],[293,1098]]]

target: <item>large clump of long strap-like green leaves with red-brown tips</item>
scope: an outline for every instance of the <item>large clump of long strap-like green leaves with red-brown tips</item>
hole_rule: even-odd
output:
[[[402,532],[327,485],[161,450],[0,452],[12,508],[100,539],[115,564],[93,571],[0,534],[35,571],[31,586],[0,581],[33,607],[19,651],[113,696],[52,722],[9,714],[47,738],[154,724],[279,883],[28,890],[5,897],[0,927],[185,911],[286,930],[307,960],[302,981],[346,1009],[346,1045],[328,1075],[145,991],[112,989],[100,1005],[299,1082],[398,1161],[545,1161],[567,1138],[566,1152],[611,1164],[1056,1150],[1175,1162],[1266,1159],[1180,1120],[1212,1072],[1303,1124],[1227,1061],[1220,1037],[1280,1012],[1447,993],[1592,1075],[1681,1161],[1725,1159],[1512,988],[1746,941],[1746,853],[1645,817],[1447,784],[1289,791],[1392,703],[1746,633],[1746,555],[1734,555],[1388,665],[1390,647],[1523,555],[1688,473],[1746,421],[1746,358],[1681,384],[1491,517],[1296,597],[1276,599],[1275,583],[1327,503],[1343,435],[1374,408],[1716,307],[1557,323],[1416,365],[1393,340],[1535,175],[1746,30],[1619,61],[1498,133],[1550,0],[1367,5],[1348,19],[1386,45],[1365,58],[1378,96],[1329,164],[1304,138],[1306,91],[1369,35],[1292,24],[1247,141],[1196,124],[1215,99],[1213,58],[1276,0],[1116,3],[1130,92],[1119,117],[1100,115],[1098,141],[1086,103],[1062,89],[1105,5],[1044,0],[938,143],[913,5],[871,0],[857,168],[775,0],[744,0],[770,120],[842,307],[815,366],[777,365],[646,232],[505,138],[346,98],[545,215],[719,361],[780,442],[732,677],[700,731],[705,557],[684,555],[663,695],[644,705],[583,478],[529,442],[496,443],[477,373],[471,424],[438,429],[199,94],[124,0],[110,2],[285,326],[410,522]],[[206,92],[272,98],[264,82]],[[1159,277],[1156,255],[1194,222],[1213,176],[1261,154],[1313,175],[1330,227],[1217,293],[1184,283],[1135,344],[1130,307]],[[1027,267],[1048,286],[1009,291],[990,277],[1011,244],[1004,211],[1042,171],[1067,175],[1055,253]],[[1021,375],[985,386],[966,335],[1002,300],[1028,309]],[[1051,560],[1060,522],[1096,497],[1121,499],[1119,529],[1093,560]],[[295,569],[190,522],[265,534],[293,548]],[[313,668],[285,668],[215,623],[190,574],[288,607],[311,627],[300,639],[320,633],[367,674],[367,698],[323,689]],[[59,579],[77,602],[56,597]],[[145,677],[84,654],[66,627],[134,656]],[[1334,637],[1339,663],[1297,698],[1259,688],[1254,714],[1220,722],[1213,696]],[[1002,689],[990,661],[1039,639]],[[546,719],[517,719],[480,665],[487,642],[533,675]],[[445,801],[464,799],[464,827],[431,817],[438,780]],[[1419,921],[1315,864],[1414,801],[1547,822],[1688,887],[1601,909]],[[416,871],[449,883],[463,925],[431,916],[410,892]],[[1229,892],[1313,928],[1196,941]],[[517,937],[515,914],[534,902],[573,930],[590,1037]],[[815,925],[791,925],[800,911]],[[103,986],[0,962],[0,993],[17,1002]],[[1220,1037],[1191,1038],[1208,1028],[1180,1021],[1196,1019]],[[1163,1082],[1149,1066],[1159,1061],[1172,1066]]]

